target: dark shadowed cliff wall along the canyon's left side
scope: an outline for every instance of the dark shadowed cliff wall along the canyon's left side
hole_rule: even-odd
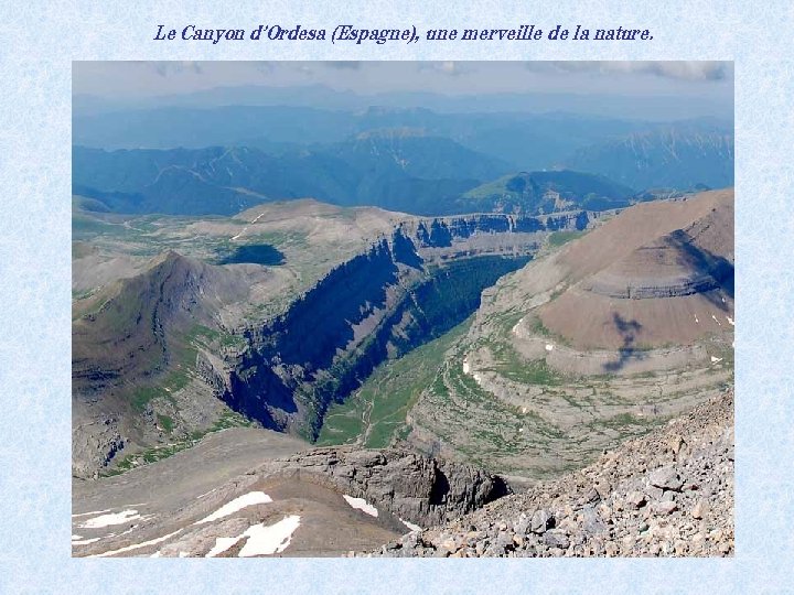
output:
[[[538,232],[581,229],[588,220],[582,212],[404,224],[331,270],[282,315],[246,329],[249,348],[226,369],[202,361],[203,374],[233,409],[313,439],[331,402],[378,364],[474,312],[485,288],[527,262]]]

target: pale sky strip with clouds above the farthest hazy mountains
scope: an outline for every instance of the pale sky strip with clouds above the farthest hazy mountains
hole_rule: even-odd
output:
[[[323,85],[362,95],[431,91],[733,93],[730,62],[75,62],[75,94],[179,95],[214,87]]]

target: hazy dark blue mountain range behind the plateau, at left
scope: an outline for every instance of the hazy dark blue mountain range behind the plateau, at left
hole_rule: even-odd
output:
[[[466,190],[509,170],[449,139],[405,132],[278,155],[239,147],[73,150],[75,194],[115,212],[173,215],[234,214],[300,197],[439,214]]]

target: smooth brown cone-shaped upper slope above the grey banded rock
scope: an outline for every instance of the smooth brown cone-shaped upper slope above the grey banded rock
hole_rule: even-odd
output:
[[[537,310],[543,325],[590,349],[690,345],[731,327],[732,193],[632,210],[560,255],[567,289]]]

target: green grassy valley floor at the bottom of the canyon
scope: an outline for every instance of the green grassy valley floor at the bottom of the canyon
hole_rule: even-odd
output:
[[[407,355],[382,364],[344,403],[332,405],[316,444],[388,446],[407,433],[406,415],[438,374],[444,354],[465,336],[471,318]]]

